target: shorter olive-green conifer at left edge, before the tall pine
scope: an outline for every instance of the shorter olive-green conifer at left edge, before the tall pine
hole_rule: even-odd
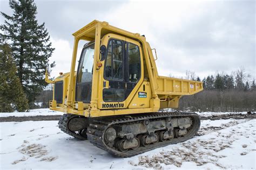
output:
[[[11,56],[11,48],[0,46],[0,112],[25,111],[28,100],[23,93],[17,69]]]

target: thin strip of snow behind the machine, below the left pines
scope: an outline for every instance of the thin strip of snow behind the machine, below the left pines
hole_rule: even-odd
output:
[[[63,115],[63,112],[54,111],[50,109],[31,109],[29,112],[0,112],[0,117],[22,117],[22,116],[49,116],[49,115]]]

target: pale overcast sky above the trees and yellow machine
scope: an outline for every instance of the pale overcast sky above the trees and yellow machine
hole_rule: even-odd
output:
[[[0,10],[11,15],[9,2],[0,3]],[[35,3],[38,22],[45,23],[56,48],[51,58],[56,61],[52,76],[70,71],[71,34],[97,19],[145,34],[151,48],[157,49],[159,75],[184,77],[186,70],[191,70],[203,78],[244,67],[246,73],[256,77],[255,1]],[[1,16],[0,23],[3,21]]]

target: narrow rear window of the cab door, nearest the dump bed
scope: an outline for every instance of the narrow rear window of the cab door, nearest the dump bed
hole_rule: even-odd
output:
[[[140,79],[140,55],[137,45],[128,43],[128,70],[129,82],[137,82]]]

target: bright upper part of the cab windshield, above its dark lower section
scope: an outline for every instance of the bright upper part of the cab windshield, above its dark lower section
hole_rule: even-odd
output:
[[[92,66],[94,56],[94,44],[83,49],[78,68],[77,82],[92,81]]]

